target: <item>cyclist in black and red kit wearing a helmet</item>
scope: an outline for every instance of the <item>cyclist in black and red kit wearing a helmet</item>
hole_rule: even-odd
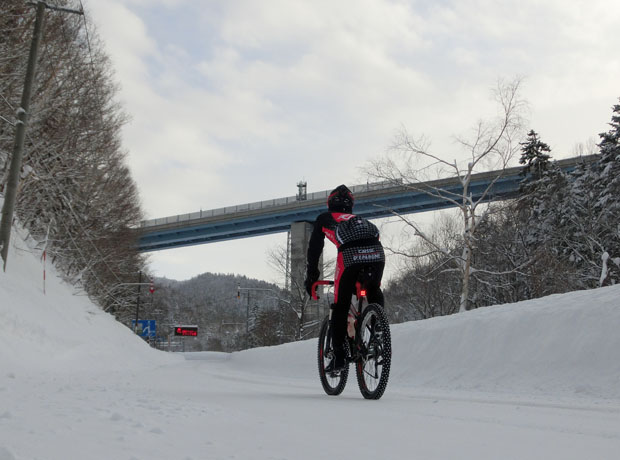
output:
[[[309,295],[320,276],[319,259],[325,236],[338,248],[330,324],[335,359],[328,367],[332,372],[346,365],[344,340],[356,281],[364,281],[369,303],[384,306],[380,286],[385,254],[379,242],[379,230],[368,220],[353,214],[353,203],[351,190],[345,185],[336,187],[327,198],[327,212],[320,214],[314,223],[308,245],[305,287]],[[363,280],[360,280],[361,275]]]

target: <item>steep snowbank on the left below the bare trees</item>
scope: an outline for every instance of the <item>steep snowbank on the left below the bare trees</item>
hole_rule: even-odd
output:
[[[0,368],[98,371],[152,366],[165,355],[88,297],[76,295],[13,231],[6,272],[0,272]]]

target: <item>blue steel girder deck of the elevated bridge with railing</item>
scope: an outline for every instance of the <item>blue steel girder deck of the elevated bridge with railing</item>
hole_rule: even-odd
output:
[[[574,157],[556,163],[561,169],[569,171],[588,161],[592,161],[592,157]],[[473,175],[470,183],[473,198],[477,200],[483,196],[493,181],[486,200],[515,197],[523,180],[520,175],[522,169],[513,167]],[[422,190],[430,187],[441,188],[456,196],[462,194],[462,185],[457,177],[416,184],[415,188],[394,183],[371,183],[350,188],[355,194],[355,213],[366,218],[454,206],[452,201],[430,196]],[[138,229],[138,247],[142,252],[156,251],[286,232],[294,229],[295,224],[313,222],[326,210],[328,194],[329,191],[325,190],[309,193],[305,199],[291,196],[143,221]]]

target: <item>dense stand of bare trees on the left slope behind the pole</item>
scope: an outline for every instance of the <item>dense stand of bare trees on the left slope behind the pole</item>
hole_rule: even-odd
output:
[[[0,176],[11,151],[33,20],[27,2],[0,0]],[[142,211],[121,148],[127,117],[115,100],[111,68],[84,18],[46,16],[16,216],[68,280],[121,318],[135,305],[122,286],[136,281],[145,260],[131,230]]]

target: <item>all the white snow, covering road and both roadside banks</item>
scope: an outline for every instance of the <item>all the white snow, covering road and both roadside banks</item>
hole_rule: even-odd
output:
[[[323,393],[316,342],[149,348],[14,237],[0,460],[620,458],[620,286],[392,326],[390,382]],[[191,340],[191,339],[188,339]]]

